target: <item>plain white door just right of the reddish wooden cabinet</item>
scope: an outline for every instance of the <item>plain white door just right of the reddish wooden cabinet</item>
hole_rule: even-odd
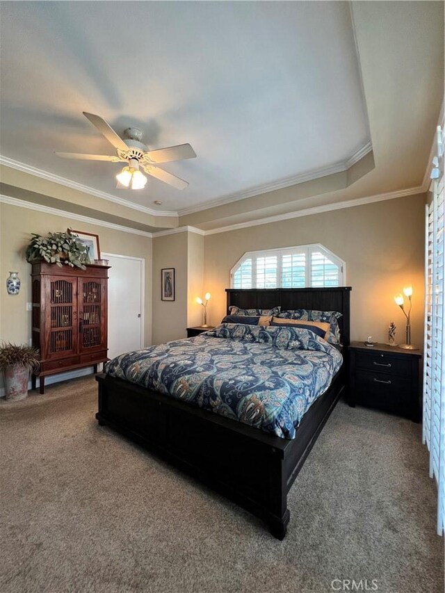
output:
[[[145,260],[102,253],[108,259],[108,358],[144,346]]]

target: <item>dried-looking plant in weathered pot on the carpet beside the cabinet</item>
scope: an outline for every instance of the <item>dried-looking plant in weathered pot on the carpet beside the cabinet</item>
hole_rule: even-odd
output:
[[[0,371],[5,377],[7,400],[22,400],[28,396],[29,371],[40,361],[37,348],[26,344],[2,343],[0,346]]]

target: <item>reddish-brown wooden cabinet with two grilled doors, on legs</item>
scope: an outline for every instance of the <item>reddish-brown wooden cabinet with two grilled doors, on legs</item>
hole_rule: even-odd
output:
[[[40,393],[44,377],[107,360],[108,266],[86,270],[32,264],[33,346],[40,349]]]

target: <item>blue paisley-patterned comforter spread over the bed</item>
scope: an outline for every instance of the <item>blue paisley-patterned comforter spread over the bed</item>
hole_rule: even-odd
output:
[[[223,323],[195,338],[120,355],[105,371],[293,439],[341,362],[340,352],[309,330]]]

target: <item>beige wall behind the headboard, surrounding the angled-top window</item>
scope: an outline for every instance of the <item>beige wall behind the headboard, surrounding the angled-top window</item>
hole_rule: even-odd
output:
[[[229,271],[246,251],[322,243],[346,261],[351,295],[351,337],[386,341],[394,321],[404,341],[405,317],[393,295],[414,288],[412,341],[423,344],[424,204],[426,195],[248,227],[204,238],[204,285],[212,293],[211,323],[225,315]]]

